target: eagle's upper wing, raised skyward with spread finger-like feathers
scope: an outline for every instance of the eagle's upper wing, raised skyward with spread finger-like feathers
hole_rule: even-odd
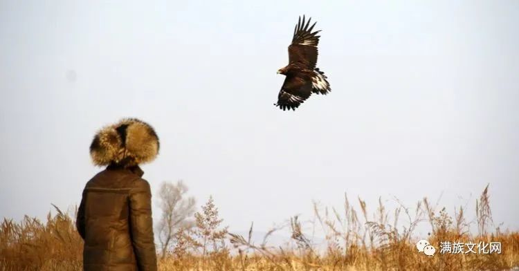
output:
[[[292,44],[289,46],[289,62],[297,62],[302,64],[305,68],[313,69],[316,67],[319,44],[319,37],[317,35],[320,30],[314,31],[314,22],[310,26],[311,18],[306,21],[304,15],[299,17],[298,24],[293,30]]]

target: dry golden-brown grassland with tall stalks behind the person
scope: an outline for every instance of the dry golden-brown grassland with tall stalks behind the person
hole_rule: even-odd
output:
[[[261,244],[251,241],[252,226],[246,236],[228,233],[223,227],[203,241],[192,230],[179,231],[174,247],[164,257],[159,254],[159,270],[511,270],[519,266],[519,232],[493,225],[488,186],[476,200],[473,221],[466,219],[465,208],[449,216],[427,198],[413,212],[401,204],[388,212],[379,200],[376,212],[368,214],[365,202],[358,198],[358,204],[360,208],[355,209],[345,198],[340,212],[314,204],[313,223],[325,233],[323,247],[313,244],[297,216],[286,225],[291,230],[291,246],[268,245],[268,236],[276,229]],[[75,215],[55,209],[46,222],[29,216],[20,222],[4,218],[0,270],[82,269],[82,239],[75,230]],[[221,219],[214,221],[212,226],[221,223]],[[399,225],[402,221],[405,225]],[[437,248],[434,256],[418,253],[415,247],[413,231],[422,221],[430,227],[427,239]],[[477,233],[471,233],[469,228],[476,226]],[[440,241],[500,242],[502,252],[440,254]]]

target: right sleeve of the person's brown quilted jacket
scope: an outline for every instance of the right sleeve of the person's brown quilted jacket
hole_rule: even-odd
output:
[[[149,183],[136,180],[129,192],[131,241],[139,270],[157,270]]]

